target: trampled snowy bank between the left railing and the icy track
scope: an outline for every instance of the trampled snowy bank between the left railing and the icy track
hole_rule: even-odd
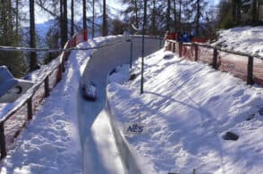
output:
[[[98,37],[77,47],[98,46],[105,40]],[[72,51],[62,81],[38,107],[33,120],[15,140],[14,149],[1,161],[1,173],[82,173],[76,100],[81,71],[90,53],[91,50]],[[37,82],[47,69],[48,66],[31,74],[30,79]],[[1,113],[8,112],[18,102],[2,104]]]

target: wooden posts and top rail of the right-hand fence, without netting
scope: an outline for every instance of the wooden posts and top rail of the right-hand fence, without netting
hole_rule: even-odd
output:
[[[191,46],[194,48],[194,61],[198,61],[198,47],[206,47],[209,49],[213,49],[213,59],[212,59],[212,67],[214,69],[218,68],[217,64],[217,59],[218,59],[218,51],[227,53],[227,54],[235,54],[235,55],[240,55],[244,57],[248,57],[248,63],[247,63],[247,73],[246,73],[246,80],[248,85],[254,84],[254,75],[253,75],[253,67],[254,67],[254,58],[257,58],[261,61],[263,61],[263,56],[260,56],[259,54],[247,54],[244,52],[238,52],[238,51],[233,51],[230,49],[222,48],[220,46],[211,46],[207,44],[199,44],[199,43],[182,43],[182,42],[177,42],[175,40],[165,40],[169,44],[168,49],[170,51],[173,51],[175,53],[175,45],[178,45],[179,47],[179,56],[182,57],[182,46]],[[260,79],[263,81],[263,79]]]

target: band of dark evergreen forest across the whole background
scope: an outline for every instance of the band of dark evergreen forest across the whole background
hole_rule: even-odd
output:
[[[164,35],[165,31],[188,32],[196,37],[211,37],[218,28],[231,28],[245,24],[259,24],[259,4],[262,0],[251,0],[243,5],[243,0],[221,0],[213,6],[208,0],[148,0],[144,9],[144,0],[120,0],[124,4],[123,19],[114,17],[112,7],[106,0],[0,0],[0,45],[37,47],[36,6],[54,19],[53,26],[46,36],[47,46],[63,47],[69,37],[81,29],[88,29],[91,23],[92,37],[96,28],[101,36],[122,34],[124,29],[142,33],[144,10],[146,10],[146,34]],[[28,9],[28,10],[22,10]],[[87,13],[91,18],[87,18]],[[30,14],[30,15],[29,15]],[[245,16],[247,15],[247,17]],[[82,17],[82,24],[75,23],[76,16]],[[102,24],[96,23],[101,16]],[[25,24],[29,25],[24,29]],[[89,25],[90,26],[90,25]],[[59,53],[45,54],[45,63],[50,62]],[[16,77],[39,68],[37,53],[18,53],[0,51],[0,65],[6,65]]]

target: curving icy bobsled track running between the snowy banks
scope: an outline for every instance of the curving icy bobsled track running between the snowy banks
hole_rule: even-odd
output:
[[[106,44],[116,43],[116,37]],[[133,59],[141,56],[141,37],[133,38]],[[145,38],[145,55],[159,49],[160,40]],[[107,76],[111,70],[130,62],[130,42],[95,50],[86,65],[81,82],[92,80],[97,85],[95,102],[83,99],[81,86],[78,95],[78,119],[83,151],[83,173],[142,173],[140,166],[115,127],[114,116],[106,97]]]

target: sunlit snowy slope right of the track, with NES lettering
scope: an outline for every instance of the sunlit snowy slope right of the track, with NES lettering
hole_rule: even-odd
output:
[[[129,66],[110,77],[109,103],[123,137],[156,173],[262,173],[262,87],[165,54],[145,59],[143,95],[140,62],[136,79],[128,81]],[[124,125],[139,120],[146,132],[126,134]],[[227,131],[239,139],[223,139]]]

